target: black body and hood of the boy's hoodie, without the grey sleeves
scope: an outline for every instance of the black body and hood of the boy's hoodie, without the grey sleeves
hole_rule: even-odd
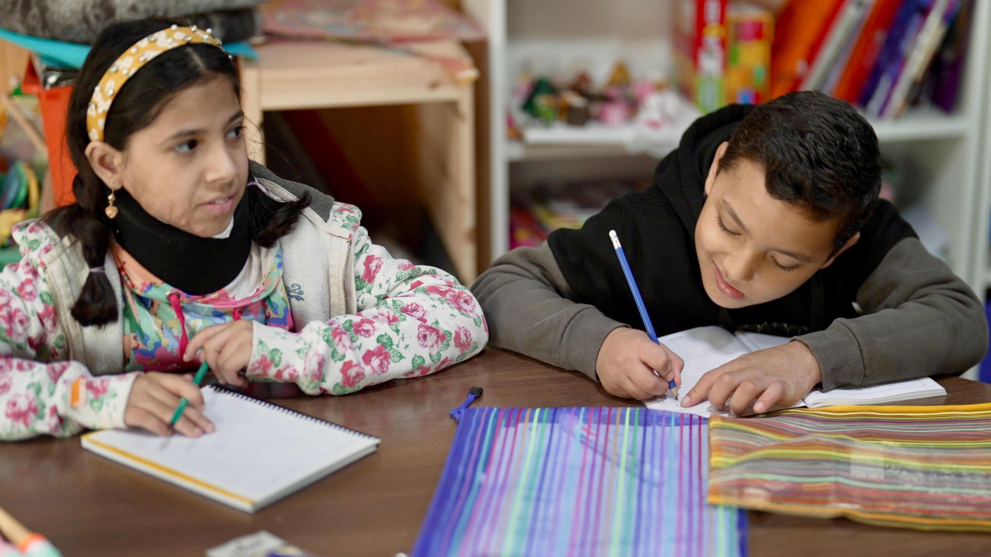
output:
[[[695,226],[706,200],[705,180],[718,146],[751,107],[731,105],[697,120],[679,148],[654,171],[643,193],[610,202],[581,230],[558,230],[548,244],[576,302],[590,303],[616,321],[643,328],[616,260],[609,230],[629,259],[658,335],[704,325],[778,335],[825,329],[837,317],[855,317],[853,301],[888,250],[915,232],[895,207],[879,200],[860,240],[794,292],[766,303],[723,309],[702,283]]]

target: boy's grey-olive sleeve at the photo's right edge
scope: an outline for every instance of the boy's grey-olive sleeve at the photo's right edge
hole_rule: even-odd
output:
[[[962,372],[988,347],[984,307],[915,238],[896,244],[857,291],[864,315],[795,337],[823,372],[823,390]]]

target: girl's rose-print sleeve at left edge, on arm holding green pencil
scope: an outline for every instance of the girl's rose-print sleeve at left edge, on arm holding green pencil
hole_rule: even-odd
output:
[[[38,261],[52,242],[37,227],[19,231],[24,259],[0,272],[0,440],[123,427],[137,374],[94,379],[78,362],[56,361],[65,339]]]

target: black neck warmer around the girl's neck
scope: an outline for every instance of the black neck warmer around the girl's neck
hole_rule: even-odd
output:
[[[251,187],[251,186],[249,186]],[[227,238],[202,238],[148,214],[124,188],[116,191],[117,217],[104,222],[124,250],[166,283],[187,294],[204,295],[231,283],[251,253],[248,196],[234,210]]]

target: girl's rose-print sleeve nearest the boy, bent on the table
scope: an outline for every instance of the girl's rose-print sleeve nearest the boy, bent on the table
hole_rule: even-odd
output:
[[[351,217],[342,226],[355,230],[358,312],[309,323],[298,333],[256,323],[249,378],[293,382],[311,394],[346,394],[431,374],[485,347],[489,329],[466,287],[438,269],[392,259],[357,225],[357,209],[339,203],[335,210]]]

